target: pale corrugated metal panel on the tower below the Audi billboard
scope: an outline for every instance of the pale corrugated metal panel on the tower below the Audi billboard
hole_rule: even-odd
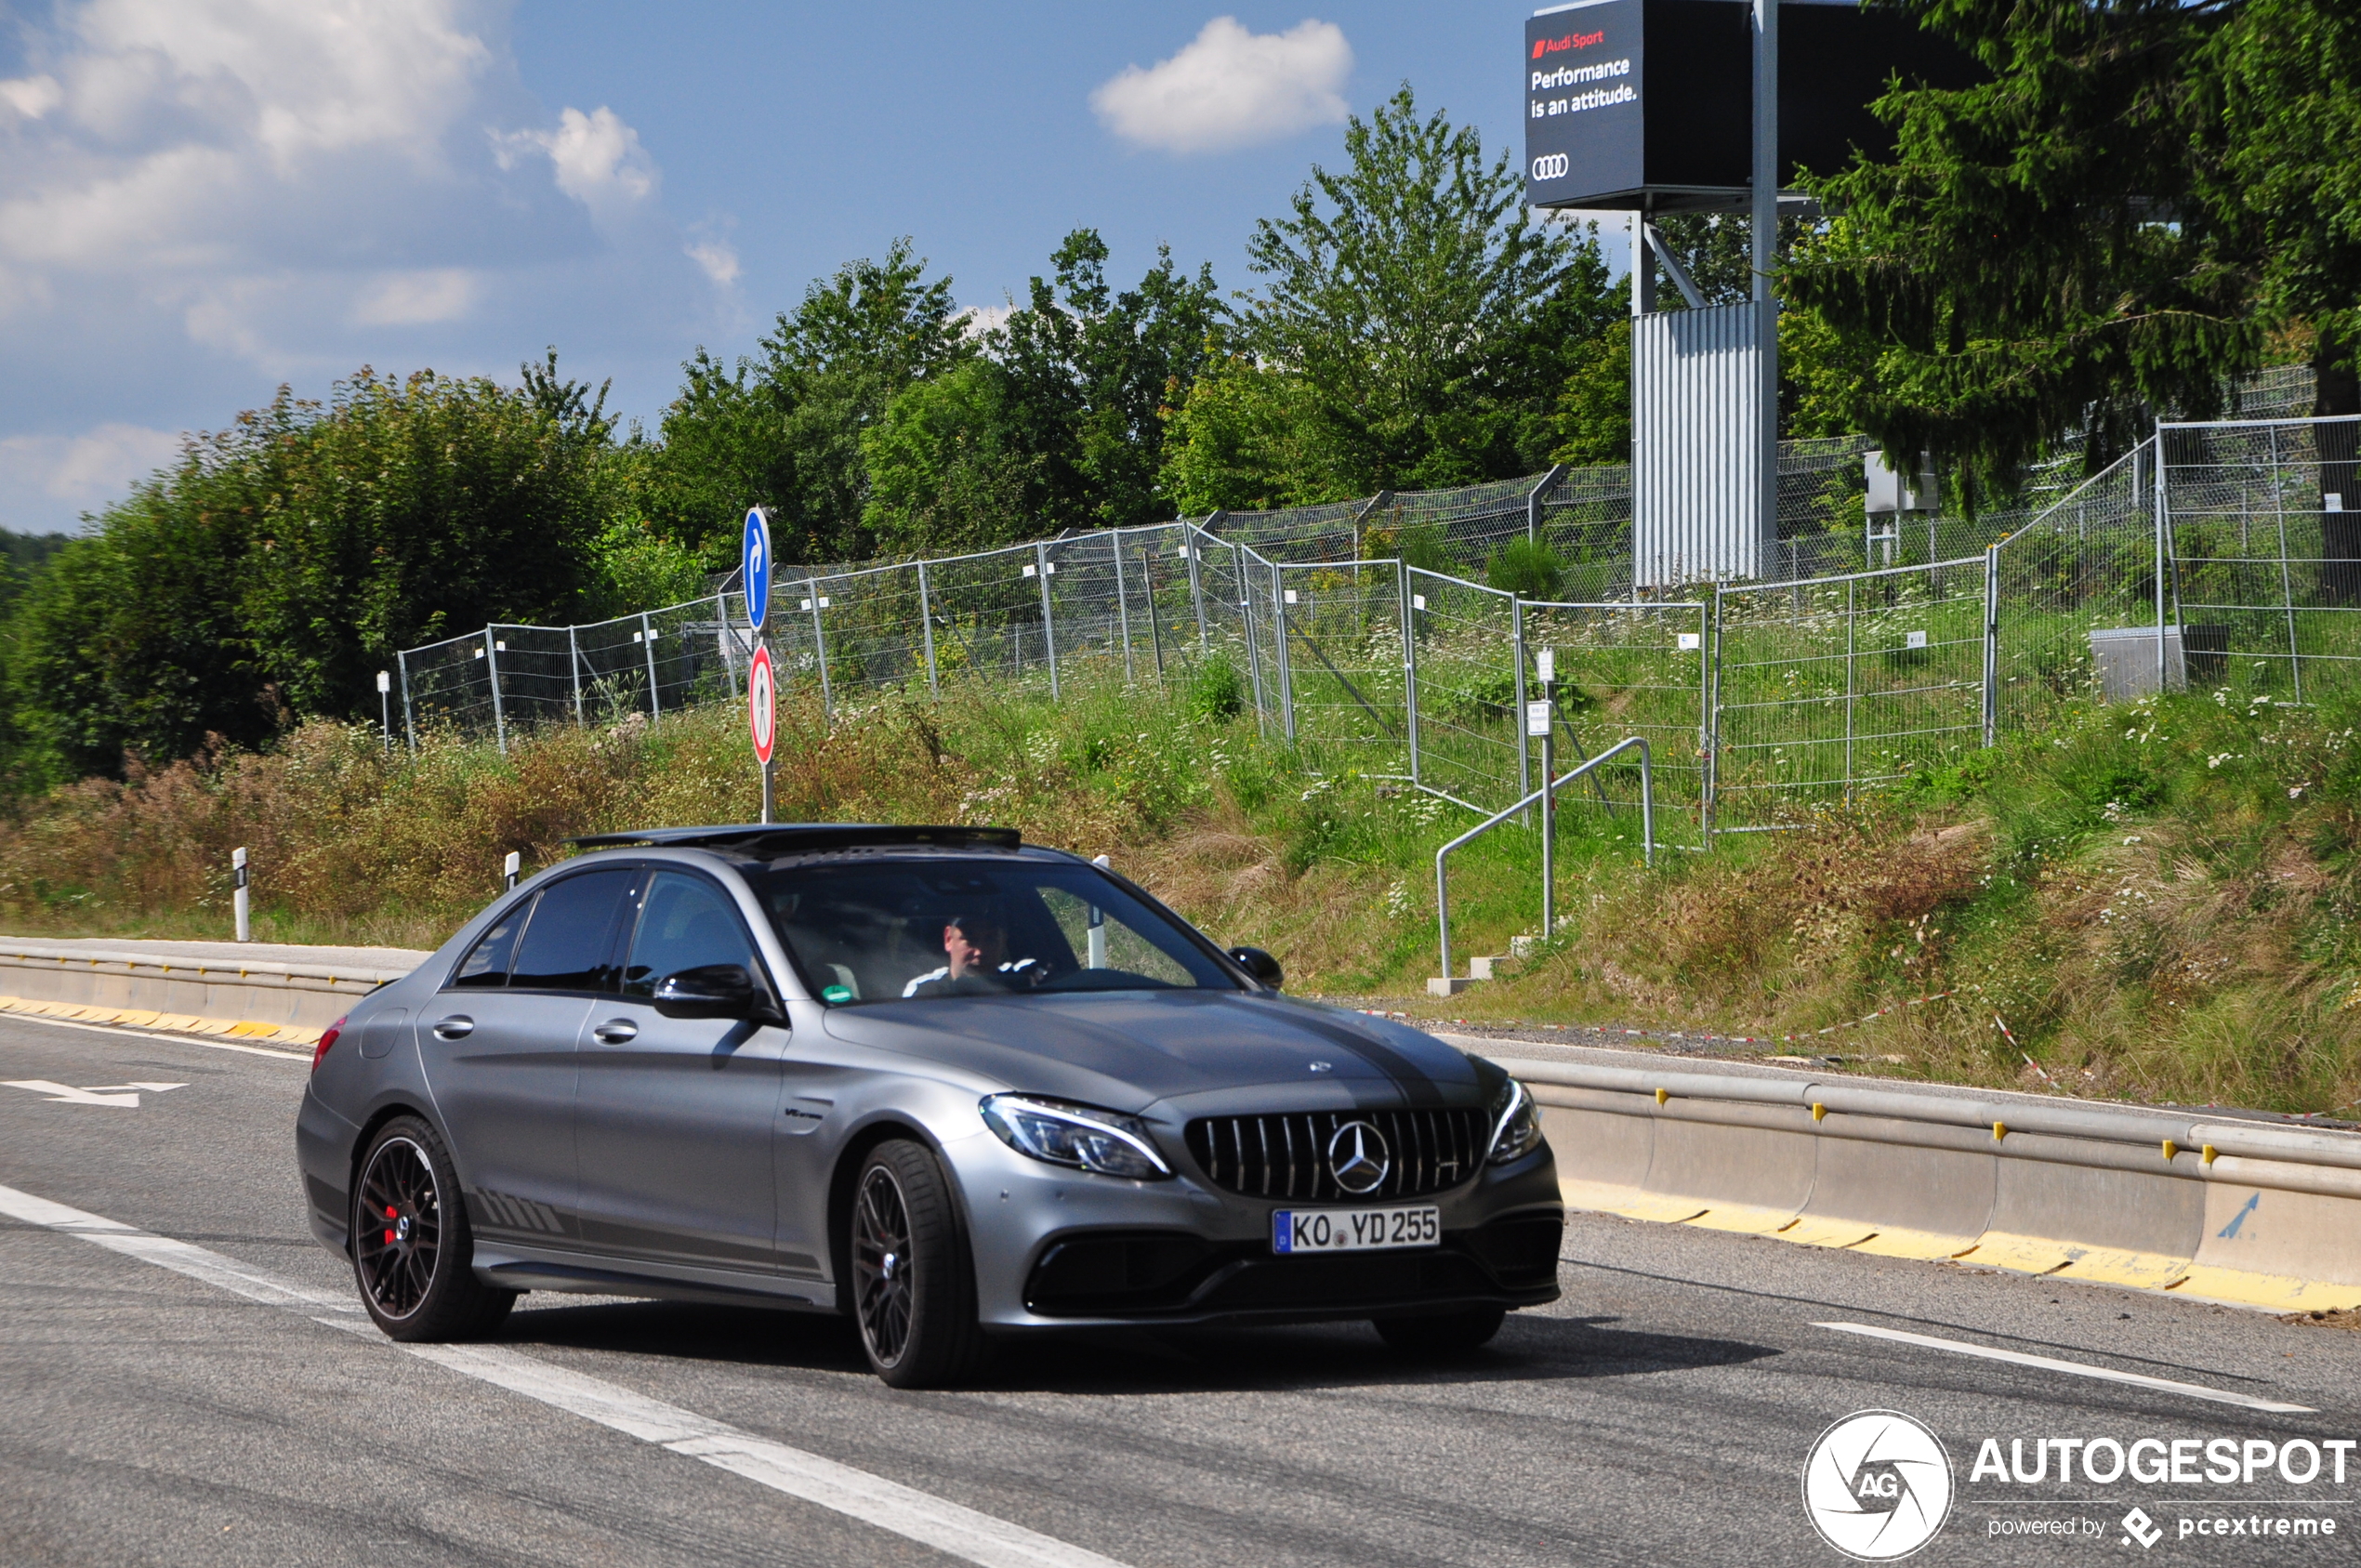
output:
[[[1634,583],[1766,576],[1754,305],[1631,321]]]

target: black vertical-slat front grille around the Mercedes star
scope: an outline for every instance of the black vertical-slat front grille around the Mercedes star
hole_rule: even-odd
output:
[[[1386,1178],[1346,1193],[1329,1169],[1339,1129],[1367,1122],[1388,1152]],[[1244,1197],[1379,1202],[1454,1188],[1483,1164],[1490,1124],[1480,1110],[1308,1110],[1277,1117],[1197,1117],[1188,1152],[1216,1188]]]

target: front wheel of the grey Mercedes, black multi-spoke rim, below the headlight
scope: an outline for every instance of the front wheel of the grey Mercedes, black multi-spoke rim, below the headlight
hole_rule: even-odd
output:
[[[878,1377],[940,1389],[980,1365],[975,1268],[935,1155],[904,1138],[876,1145],[852,1185],[845,1242],[852,1320]]]

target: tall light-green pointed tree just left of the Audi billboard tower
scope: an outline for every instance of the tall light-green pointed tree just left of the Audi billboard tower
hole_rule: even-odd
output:
[[[1421,118],[1407,85],[1348,123],[1346,151],[1343,172],[1313,168],[1291,213],[1247,246],[1265,283],[1235,347],[1289,378],[1303,423],[1263,446],[1322,453],[1317,472],[1263,486],[1332,498],[1542,468],[1577,345],[1620,314],[1596,241],[1535,224],[1509,156],[1487,161],[1473,128]]]

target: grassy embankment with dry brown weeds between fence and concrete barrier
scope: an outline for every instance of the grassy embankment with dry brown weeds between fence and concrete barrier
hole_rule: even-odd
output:
[[[2342,1110],[2361,1100],[2354,706],[2071,706],[1905,791],[1655,871],[1629,819],[1568,805],[1558,940],[1433,1013],[1778,1034],[1955,989],[1825,1048],[1955,1082],[2040,1089],[2045,1072],[2073,1093]],[[1433,848],[1464,812],[1301,760],[1258,739],[1221,680],[1155,694],[1070,678],[1062,706],[888,697],[833,727],[789,701],[779,803],[791,819],[1015,824],[1270,947],[1291,989],[1414,997],[1433,973]],[[753,789],[727,704],[555,730],[508,758],[434,739],[385,760],[361,730],[307,725],[269,753],[17,808],[0,923],[224,935],[243,843],[260,937],[430,947],[493,893],[510,848],[541,864],[569,834],[744,822]],[[1516,829],[1454,862],[1459,952],[1537,923],[1535,869]]]

